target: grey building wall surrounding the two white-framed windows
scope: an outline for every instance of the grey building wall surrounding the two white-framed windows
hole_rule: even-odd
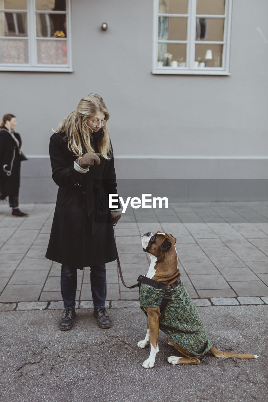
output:
[[[79,0],[71,11],[74,72],[0,73],[1,111],[17,116],[30,156],[21,202],[55,200],[51,128],[90,92],[103,96],[111,113],[118,178],[196,180],[183,182],[196,188],[189,200],[201,197],[201,179],[210,180],[212,193],[202,195],[209,200],[223,199],[215,193],[221,179],[253,179],[254,194],[249,182],[240,193],[235,186],[236,196],[226,190],[227,198],[266,197],[258,181],[268,178],[266,0],[233,1],[230,76],[151,74],[152,0]]]

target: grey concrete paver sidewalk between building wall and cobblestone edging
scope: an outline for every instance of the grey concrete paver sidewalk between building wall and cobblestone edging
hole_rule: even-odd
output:
[[[51,303],[62,300],[60,264],[45,258],[54,206],[21,205],[29,217],[14,218],[1,202],[0,310],[37,301],[43,302],[39,308],[61,308],[60,303]],[[115,227],[127,284],[148,271],[140,236],[158,230],[177,238],[181,279],[197,305],[268,302],[268,202],[170,203],[167,210],[128,209]],[[89,267],[78,270],[76,299],[80,308],[91,306]],[[127,301],[137,300],[137,288],[126,289],[116,262],[108,263],[107,305],[120,301],[118,306],[126,306]]]

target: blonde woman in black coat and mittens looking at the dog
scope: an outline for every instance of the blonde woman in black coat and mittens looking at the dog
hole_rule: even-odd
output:
[[[109,112],[101,96],[89,94],[50,138],[52,178],[59,186],[46,258],[62,264],[64,312],[60,329],[75,318],[77,269],[90,267],[94,316],[101,328],[111,319],[105,309],[105,263],[116,259],[113,224],[120,204],[110,211],[108,194],[117,193]]]

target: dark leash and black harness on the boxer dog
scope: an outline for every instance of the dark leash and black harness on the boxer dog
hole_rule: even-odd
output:
[[[173,291],[174,287],[179,285],[181,280],[177,279],[177,281],[173,282],[171,285],[166,285],[165,283],[162,283],[162,282],[159,282],[159,281],[154,281],[153,279],[147,278],[145,275],[140,275],[138,277],[138,279],[137,279],[138,283],[136,283],[135,285],[132,285],[132,286],[127,286],[125,281],[124,281],[124,279],[123,279],[120,260],[119,260],[118,251],[117,251],[116,246],[115,246],[115,250],[116,250],[116,259],[117,259],[118,271],[119,271],[119,275],[120,275],[120,278],[121,278],[121,281],[122,281],[123,285],[125,287],[127,287],[128,289],[133,289],[134,287],[139,287],[139,289],[140,289],[141,283],[145,283],[146,285],[152,286],[155,289],[165,290],[165,295],[163,297],[161,305],[159,306],[160,307],[160,312],[165,310],[168,302],[171,300],[171,294],[172,294],[172,291]],[[146,314],[146,312],[145,312],[145,314]]]

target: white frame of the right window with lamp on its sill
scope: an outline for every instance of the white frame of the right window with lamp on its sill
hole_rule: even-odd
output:
[[[152,74],[184,74],[184,75],[230,75],[230,48],[231,48],[231,13],[232,0],[225,1],[225,25],[223,41],[196,41],[196,16],[201,18],[223,18],[222,15],[196,14],[196,0],[188,0],[187,14],[161,14],[159,13],[159,0],[154,0],[153,4],[153,68]],[[187,24],[187,40],[185,41],[170,41],[158,39],[158,21],[159,16],[167,17],[188,17]],[[158,67],[158,43],[182,43],[186,44],[186,66],[187,67]],[[195,45],[223,45],[222,67],[195,67],[194,54]]]

